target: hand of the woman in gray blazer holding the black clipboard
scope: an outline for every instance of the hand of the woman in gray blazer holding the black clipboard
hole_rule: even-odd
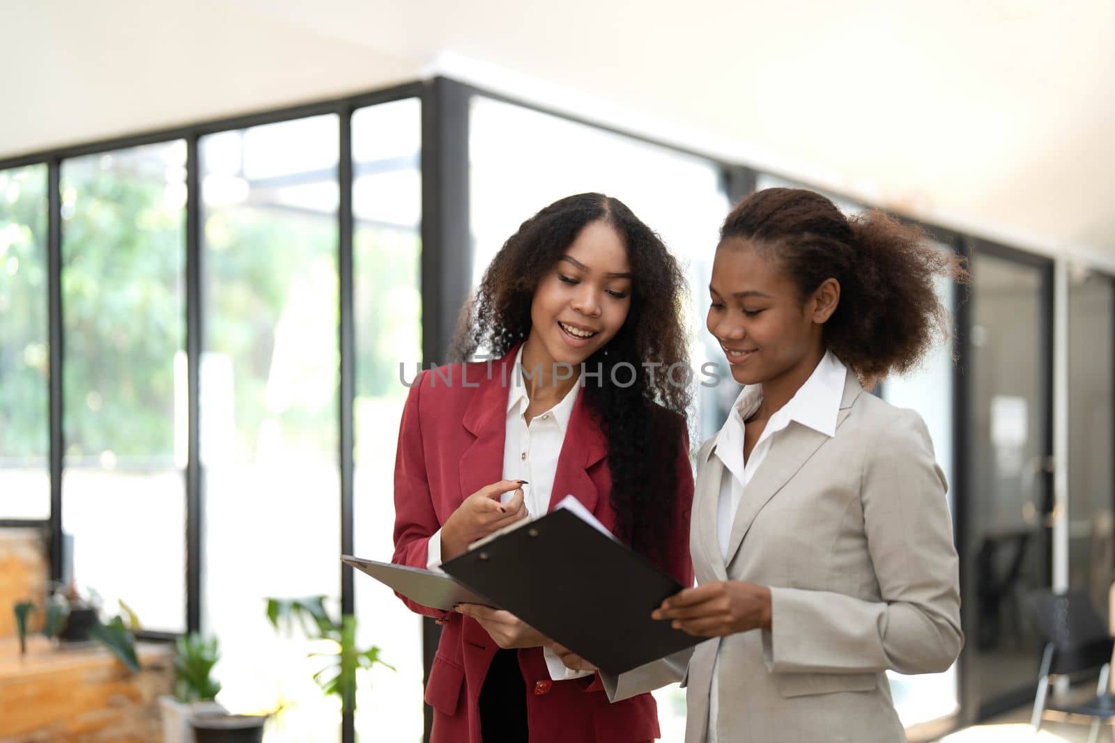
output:
[[[770,627],[770,589],[743,580],[712,580],[686,588],[651,615],[696,637],[721,637]]]

